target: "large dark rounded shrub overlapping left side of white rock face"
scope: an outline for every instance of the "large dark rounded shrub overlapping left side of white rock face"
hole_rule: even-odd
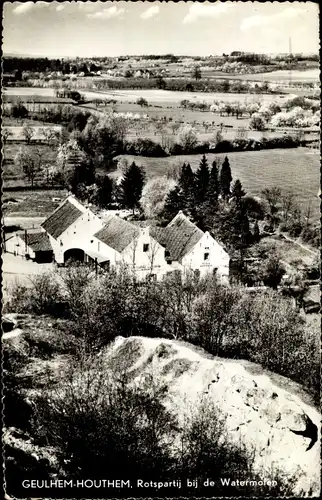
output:
[[[165,393],[153,379],[131,387],[97,357],[83,359],[36,401],[34,431],[58,449],[71,477],[99,478],[107,470],[115,479],[124,470],[129,479],[164,477],[171,463],[164,438],[171,442],[175,424],[162,404]]]

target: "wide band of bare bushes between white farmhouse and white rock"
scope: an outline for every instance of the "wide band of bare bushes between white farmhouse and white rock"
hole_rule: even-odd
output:
[[[270,249],[264,253],[263,278],[276,286],[281,267],[276,261],[268,265]],[[70,331],[89,351],[118,335],[179,338],[212,354],[261,363],[318,394],[314,339],[319,333],[303,330],[301,316],[280,291],[253,295],[247,288],[221,286],[213,276],[198,280],[189,272],[161,282],[137,283],[126,269],[94,279],[81,266],[41,276],[30,289],[17,287],[6,308],[57,315],[62,297],[72,319]]]

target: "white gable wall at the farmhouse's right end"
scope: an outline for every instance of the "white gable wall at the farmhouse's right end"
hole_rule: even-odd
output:
[[[208,257],[206,257],[208,254]],[[219,243],[206,232],[194,248],[183,257],[182,265],[185,268],[199,270],[200,276],[217,269],[217,275],[222,282],[229,279],[229,255]]]

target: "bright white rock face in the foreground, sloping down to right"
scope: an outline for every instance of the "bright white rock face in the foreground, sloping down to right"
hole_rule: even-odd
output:
[[[190,344],[118,337],[104,352],[107,366],[153,374],[167,383],[165,404],[179,421],[203,396],[227,416],[229,439],[255,449],[262,477],[296,474],[295,496],[320,494],[320,415],[298,384],[245,361],[215,358]]]

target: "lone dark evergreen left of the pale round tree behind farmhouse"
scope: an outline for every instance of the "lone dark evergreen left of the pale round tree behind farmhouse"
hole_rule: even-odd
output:
[[[144,181],[145,172],[135,162],[125,169],[120,184],[121,203],[124,207],[131,208],[133,213],[139,207]]]

